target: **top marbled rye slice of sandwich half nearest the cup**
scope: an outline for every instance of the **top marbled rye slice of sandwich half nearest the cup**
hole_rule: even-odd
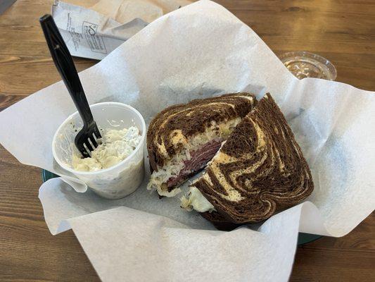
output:
[[[203,133],[212,121],[216,123],[232,118],[243,118],[253,109],[256,99],[249,93],[231,93],[220,97],[196,99],[187,104],[170,106],[153,118],[147,131],[147,149],[151,169],[165,164],[174,154],[180,152],[183,142],[172,143],[172,134],[181,130],[187,139],[197,133]],[[162,152],[160,146],[165,148]]]

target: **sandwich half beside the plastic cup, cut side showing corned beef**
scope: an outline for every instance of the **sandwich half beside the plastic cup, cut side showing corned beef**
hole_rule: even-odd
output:
[[[177,195],[178,186],[205,167],[255,103],[253,94],[234,93],[161,111],[147,132],[152,171],[148,189],[160,196]]]

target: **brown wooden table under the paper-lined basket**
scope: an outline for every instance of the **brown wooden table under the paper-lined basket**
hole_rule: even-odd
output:
[[[337,80],[375,90],[375,1],[221,0],[279,54],[330,59]],[[0,16],[0,110],[60,80],[38,18],[51,0],[18,0]],[[96,61],[75,59],[79,71]],[[11,122],[11,121],[9,121]],[[0,147],[0,280],[98,281],[72,231],[52,236],[44,222],[39,168]],[[375,215],[343,238],[298,247],[291,281],[375,281]]]

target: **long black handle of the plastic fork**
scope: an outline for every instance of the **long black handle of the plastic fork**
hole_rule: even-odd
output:
[[[72,60],[72,56],[66,47],[63,37],[56,26],[52,16],[46,14],[39,19],[40,25],[46,37],[46,42],[51,51],[53,62],[58,69],[58,72],[63,78],[65,86],[68,88],[70,97],[72,97],[75,106],[84,123],[84,127],[88,127],[94,122],[94,118],[91,114],[89,103],[87,102],[86,95],[78,76],[77,70]]]

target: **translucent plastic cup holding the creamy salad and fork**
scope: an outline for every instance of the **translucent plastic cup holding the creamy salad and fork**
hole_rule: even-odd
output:
[[[136,190],[144,178],[144,137],[146,124],[139,111],[132,106],[117,102],[103,102],[90,106],[98,128],[122,129],[136,126],[141,142],[126,159],[100,171],[76,171],[72,168],[73,152],[78,152],[74,140],[83,123],[76,111],[56,131],[52,141],[53,157],[65,170],[106,199],[120,199]]]

